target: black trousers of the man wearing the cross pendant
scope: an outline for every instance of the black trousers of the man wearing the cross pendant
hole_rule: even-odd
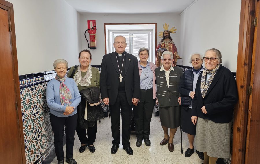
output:
[[[113,105],[109,104],[111,116],[111,131],[113,137],[113,145],[120,144],[120,111],[122,114],[122,144],[123,146],[130,146],[130,124],[132,115],[132,105],[127,102],[126,94],[118,93],[116,102]]]

